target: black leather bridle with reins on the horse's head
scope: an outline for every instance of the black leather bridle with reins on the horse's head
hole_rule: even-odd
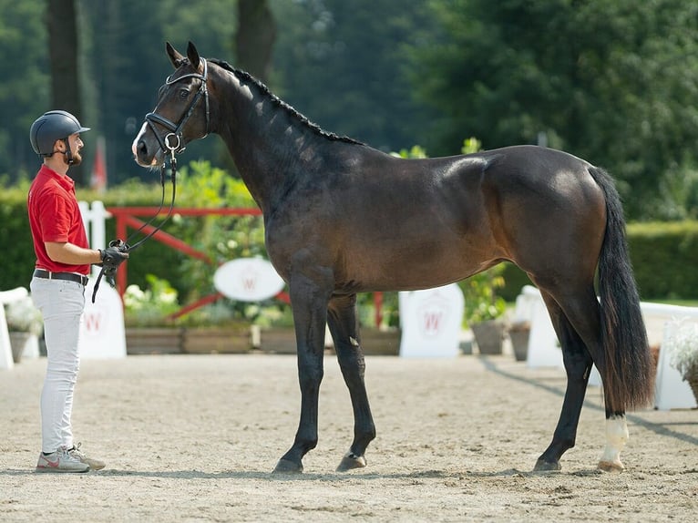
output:
[[[194,108],[196,108],[197,104],[199,103],[199,100],[201,97],[204,99],[204,103],[206,105],[206,134],[202,138],[206,138],[209,135],[209,123],[210,123],[210,107],[209,107],[209,90],[208,87],[206,86],[206,79],[208,77],[208,72],[209,72],[209,66],[204,58],[200,58],[201,63],[203,63],[203,74],[200,75],[199,73],[190,73],[188,75],[183,75],[179,78],[172,79],[171,76],[167,77],[165,79],[165,84],[160,87],[160,91],[164,87],[171,86],[172,84],[175,84],[179,82],[180,80],[183,80],[185,78],[198,78],[201,81],[201,84],[199,86],[199,90],[197,91],[196,95],[192,98],[190,102],[189,108],[184,112],[182,117],[180,118],[180,121],[178,123],[174,123],[170,121],[168,118],[163,118],[159,116],[159,114],[152,112],[148,113],[146,115],[146,122],[148,123],[148,126],[150,130],[153,132],[155,135],[155,138],[158,139],[158,143],[160,146],[160,149],[165,153],[165,157],[162,159],[162,165],[160,166],[160,184],[162,185],[162,199],[160,200],[160,205],[158,210],[155,212],[153,217],[148,220],[146,223],[143,223],[138,231],[134,231],[126,241],[121,241],[121,240],[114,240],[109,242],[109,247],[116,247],[119,251],[122,252],[130,252],[130,251],[135,251],[138,249],[144,241],[148,240],[153,234],[158,232],[160,229],[162,229],[162,226],[165,225],[165,222],[169,220],[169,216],[172,214],[172,210],[174,209],[174,200],[175,200],[175,195],[176,195],[176,187],[177,187],[177,158],[175,155],[183,151],[185,148],[183,147],[182,143],[182,128],[184,128],[184,125],[187,123],[189,118],[194,112]],[[157,109],[157,107],[156,107]],[[158,124],[166,129],[169,130],[169,133],[165,135],[164,138],[160,137],[158,134],[158,130],[155,128],[155,124]],[[175,141],[176,139],[176,141]],[[164,220],[160,221],[157,227],[154,227],[152,231],[148,233],[144,238],[139,240],[137,243],[134,243],[133,245],[129,245],[129,242],[133,239],[133,237],[137,234],[139,234],[140,231],[143,231],[146,227],[152,224],[153,220],[155,220],[159,216],[160,210],[162,210],[163,205],[165,204],[165,169],[166,169],[166,161],[169,157],[169,166],[170,166],[170,179],[172,180],[172,200],[169,202],[169,210],[167,213],[167,216],[165,216]],[[95,282],[95,288],[94,291],[92,292],[92,303],[95,303],[95,298],[97,296],[97,290],[99,288],[99,282],[102,280],[102,276],[104,276],[105,273],[105,268],[102,267],[102,270],[99,272],[97,282]]]

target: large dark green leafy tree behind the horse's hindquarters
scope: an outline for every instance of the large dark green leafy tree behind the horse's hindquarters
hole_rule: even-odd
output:
[[[430,5],[442,31],[412,56],[417,96],[441,113],[422,142],[432,153],[456,150],[464,134],[492,149],[542,133],[549,146],[610,169],[631,218],[672,208],[666,180],[694,169],[698,138],[693,2]]]

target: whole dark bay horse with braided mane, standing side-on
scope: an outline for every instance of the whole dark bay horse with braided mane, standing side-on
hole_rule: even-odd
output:
[[[619,195],[608,174],[554,149],[508,147],[398,159],[327,133],[259,81],[167,45],[175,72],[133,142],[142,166],[191,140],[225,141],[264,217],[266,247],[293,304],[301,417],[275,472],[303,471],[317,444],[328,324],[354,408],[338,470],[365,467],[375,425],[364,386],[356,293],[458,282],[504,261],[529,274],[558,334],[567,391],[537,470],[558,470],[575,445],[592,364],[603,382],[606,447],[621,470],[626,409],[648,405],[653,378]],[[598,270],[598,292],[594,275]]]

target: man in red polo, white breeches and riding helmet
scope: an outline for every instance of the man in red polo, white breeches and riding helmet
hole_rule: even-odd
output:
[[[80,133],[87,130],[70,113],[55,110],[37,118],[29,131],[32,148],[44,161],[27,200],[36,252],[30,289],[44,316],[47,354],[41,392],[42,452],[36,472],[87,472],[105,467],[73,442],[77,342],[90,264],[102,264],[113,273],[128,253],[115,247],[100,251],[88,246],[75,182],[67,176],[70,166],[82,161]]]

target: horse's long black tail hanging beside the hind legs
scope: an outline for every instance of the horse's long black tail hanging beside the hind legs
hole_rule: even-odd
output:
[[[602,361],[598,366],[606,410],[621,413],[651,405],[652,356],[625,240],[621,197],[606,171],[595,167],[589,171],[606,196],[606,234],[599,257]]]

